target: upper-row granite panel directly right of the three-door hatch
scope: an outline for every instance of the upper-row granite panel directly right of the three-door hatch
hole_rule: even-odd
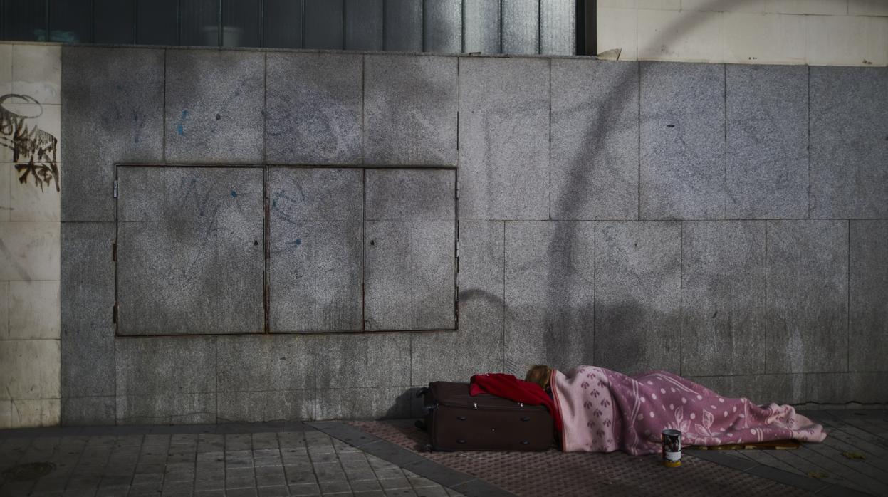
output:
[[[549,61],[460,59],[459,218],[549,218]]]

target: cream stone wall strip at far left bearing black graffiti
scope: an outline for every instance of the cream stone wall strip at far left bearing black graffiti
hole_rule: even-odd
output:
[[[59,53],[0,43],[0,429],[59,423]]]

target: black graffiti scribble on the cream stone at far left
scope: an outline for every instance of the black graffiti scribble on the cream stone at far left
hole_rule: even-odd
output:
[[[4,104],[10,103],[36,104],[36,111],[21,115],[7,109]],[[0,146],[12,150],[12,162],[16,162],[15,170],[20,173],[19,182],[28,183],[28,176],[34,177],[34,184],[44,189],[44,185],[55,184],[59,192],[59,164],[56,161],[59,139],[41,130],[35,125],[28,125],[28,120],[36,119],[44,113],[44,107],[33,97],[9,93],[0,97]],[[27,163],[19,163],[28,161]]]

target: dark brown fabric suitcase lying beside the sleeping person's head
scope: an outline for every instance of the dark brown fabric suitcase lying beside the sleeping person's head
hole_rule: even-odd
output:
[[[544,406],[507,398],[472,397],[469,383],[432,382],[424,396],[424,428],[432,450],[543,451],[553,444],[552,417]]]

